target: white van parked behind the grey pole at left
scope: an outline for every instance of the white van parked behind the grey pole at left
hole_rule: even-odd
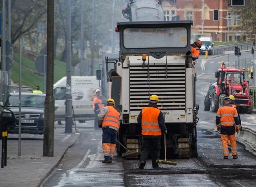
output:
[[[65,121],[66,84],[67,77],[65,76],[53,85],[55,104],[58,104],[58,109],[55,110],[55,121]],[[96,76],[71,76],[72,105],[75,120],[85,122],[95,119],[92,107],[96,89],[99,89],[99,81]]]

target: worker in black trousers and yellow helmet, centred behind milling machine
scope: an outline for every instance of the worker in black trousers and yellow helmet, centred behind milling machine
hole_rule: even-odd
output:
[[[148,154],[151,152],[152,168],[157,168],[157,160],[160,157],[160,138],[163,131],[167,134],[165,126],[164,115],[160,109],[157,108],[158,96],[151,95],[149,105],[143,108],[137,117],[137,122],[142,126],[143,144],[141,147],[141,160],[139,168],[144,169]]]

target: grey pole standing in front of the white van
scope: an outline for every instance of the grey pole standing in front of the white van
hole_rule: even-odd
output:
[[[72,133],[72,95],[71,95],[71,0],[67,3],[67,85],[66,85],[66,118],[65,133]]]

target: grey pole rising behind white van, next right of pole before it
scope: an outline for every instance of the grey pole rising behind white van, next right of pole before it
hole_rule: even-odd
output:
[[[84,0],[81,0],[81,65],[80,65],[80,76],[84,75],[84,37],[83,37],[83,29],[84,29]]]

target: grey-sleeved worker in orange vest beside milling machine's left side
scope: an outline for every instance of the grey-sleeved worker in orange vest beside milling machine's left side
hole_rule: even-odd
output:
[[[104,161],[102,163],[112,163],[116,147],[117,132],[120,128],[120,114],[114,108],[115,101],[110,98],[107,106],[103,107],[98,114],[98,126],[102,128],[102,149]]]

